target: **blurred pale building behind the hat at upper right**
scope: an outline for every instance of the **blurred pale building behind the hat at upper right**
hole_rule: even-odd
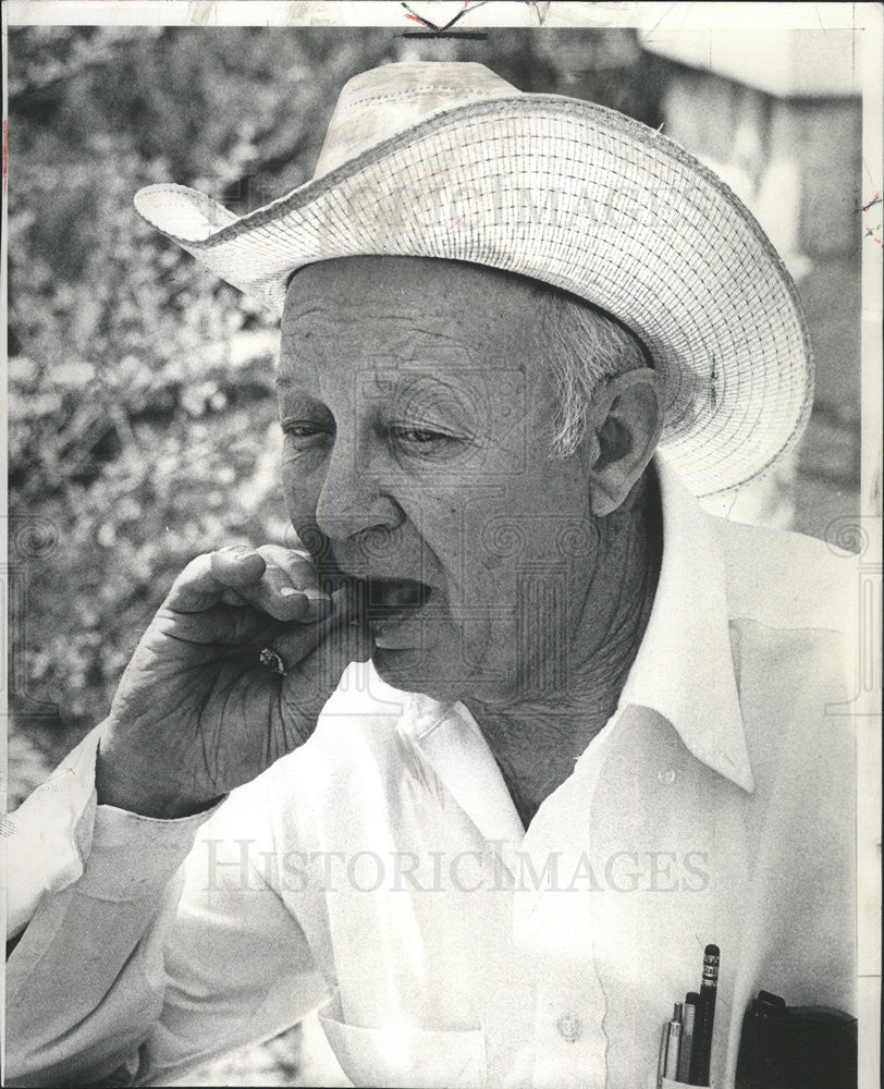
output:
[[[664,132],[747,204],[796,279],[860,231],[861,42],[847,29],[656,30]]]

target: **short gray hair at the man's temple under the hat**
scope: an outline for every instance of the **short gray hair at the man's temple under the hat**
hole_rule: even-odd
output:
[[[567,457],[586,437],[587,412],[603,379],[652,364],[639,339],[605,310],[548,284],[535,292],[541,307],[538,350],[557,400],[551,446],[555,456]]]

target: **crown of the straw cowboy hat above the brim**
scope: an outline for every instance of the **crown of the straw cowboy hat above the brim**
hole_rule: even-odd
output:
[[[405,61],[360,72],[341,88],[314,178],[441,110],[520,94],[472,61]]]

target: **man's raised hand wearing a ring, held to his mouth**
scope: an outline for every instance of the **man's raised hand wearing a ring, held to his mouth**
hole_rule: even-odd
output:
[[[302,745],[371,656],[353,588],[329,598],[306,551],[223,548],[185,567],[142,637],[99,747],[99,803],[198,812]],[[285,673],[260,661],[271,648]]]

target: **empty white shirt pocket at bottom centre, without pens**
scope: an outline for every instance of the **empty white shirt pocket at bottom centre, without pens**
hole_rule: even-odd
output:
[[[426,1031],[391,1026],[360,1028],[319,1011],[319,1021],[342,1069],[356,1086],[391,1089],[481,1089],[486,1085],[482,1029]]]

